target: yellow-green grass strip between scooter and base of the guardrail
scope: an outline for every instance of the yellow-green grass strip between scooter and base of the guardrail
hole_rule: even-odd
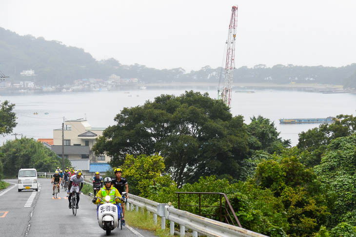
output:
[[[128,225],[138,227],[143,230],[153,231],[158,237],[171,237],[171,235],[169,234],[169,228],[166,228],[165,230],[160,229],[160,217],[157,217],[157,224],[153,222],[153,214],[149,216],[147,212],[145,212],[145,214],[142,214],[140,212],[135,211],[126,211],[125,220]]]

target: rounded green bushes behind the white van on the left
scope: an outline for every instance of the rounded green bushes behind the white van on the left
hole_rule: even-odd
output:
[[[15,177],[21,168],[53,172],[57,166],[61,166],[62,161],[56,153],[32,138],[8,140],[0,147],[0,153],[3,153],[0,162],[5,177]],[[64,166],[70,166],[68,159],[64,159]]]

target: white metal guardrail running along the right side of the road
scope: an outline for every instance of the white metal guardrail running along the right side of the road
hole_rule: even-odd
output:
[[[173,206],[168,206],[166,203],[158,203],[133,194],[128,195],[127,210],[130,210],[130,204],[131,211],[134,210],[135,205],[136,212],[138,212],[139,207],[143,211],[152,212],[155,223],[157,223],[157,216],[161,217],[161,229],[166,228],[166,219],[168,219],[170,221],[170,234],[172,236],[175,232],[174,224],[178,223],[180,225],[181,237],[185,235],[185,227],[193,231],[193,237],[198,237],[198,233],[211,237],[267,237],[234,225],[178,210]]]

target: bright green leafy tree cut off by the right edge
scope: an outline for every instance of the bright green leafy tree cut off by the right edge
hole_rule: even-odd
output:
[[[356,221],[356,135],[336,138],[314,167],[330,198],[331,226]]]

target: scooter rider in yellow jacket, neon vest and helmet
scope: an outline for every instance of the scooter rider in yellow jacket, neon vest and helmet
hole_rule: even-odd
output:
[[[114,199],[115,197],[121,197],[121,195],[120,195],[119,191],[115,187],[111,186],[111,182],[112,182],[112,180],[111,180],[110,177],[104,178],[104,184],[105,185],[104,185],[104,187],[102,187],[100,189],[100,191],[98,192],[97,196],[93,198],[92,202],[94,204],[99,204],[100,203],[100,205],[101,205],[104,202],[100,201],[100,199],[97,198],[97,197],[100,197],[101,199],[104,199],[107,195],[110,195],[110,197],[111,197],[110,202],[113,203],[113,204],[116,204],[118,206],[118,210],[119,210],[118,202],[121,202],[121,205],[122,205],[123,201],[121,201],[119,199],[116,199],[116,200]],[[99,206],[97,208],[97,215],[99,215]],[[122,208],[122,210],[123,210],[123,208]],[[118,211],[118,217],[120,218],[119,211]],[[124,225],[123,219],[122,219],[122,225]],[[119,228],[119,226],[118,226],[118,228]]]

